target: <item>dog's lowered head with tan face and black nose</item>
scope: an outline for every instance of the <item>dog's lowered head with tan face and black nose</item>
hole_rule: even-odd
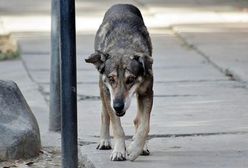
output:
[[[110,92],[111,107],[121,117],[131,103],[131,97],[147,75],[152,74],[152,58],[135,53],[125,56],[109,55],[96,51],[87,63],[95,65]]]

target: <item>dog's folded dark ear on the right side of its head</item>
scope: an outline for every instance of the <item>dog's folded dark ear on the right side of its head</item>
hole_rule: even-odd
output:
[[[153,64],[153,59],[151,56],[146,55],[146,54],[135,54],[134,59],[136,59],[143,67],[143,72],[144,75],[152,75],[152,64]]]

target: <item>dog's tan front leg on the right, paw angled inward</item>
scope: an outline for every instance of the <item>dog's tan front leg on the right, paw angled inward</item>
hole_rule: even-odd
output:
[[[149,94],[137,94],[138,101],[138,124],[137,131],[134,135],[134,140],[127,149],[128,159],[135,160],[143,151],[147,135],[150,129],[150,113],[153,104],[153,91]]]

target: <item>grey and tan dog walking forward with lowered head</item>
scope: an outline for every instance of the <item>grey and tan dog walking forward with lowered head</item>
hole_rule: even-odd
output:
[[[95,37],[95,53],[85,59],[99,71],[102,100],[100,144],[97,149],[110,146],[109,125],[113,127],[113,161],[133,161],[140,154],[149,155],[146,138],[150,127],[153,104],[152,44],[138,8],[117,4],[106,13]],[[135,135],[125,147],[122,117],[136,93],[137,114],[134,119]]]

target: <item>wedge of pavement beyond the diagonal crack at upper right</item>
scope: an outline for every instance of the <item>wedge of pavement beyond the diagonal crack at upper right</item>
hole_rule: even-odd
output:
[[[248,81],[247,23],[176,26],[174,30],[224,73]]]

